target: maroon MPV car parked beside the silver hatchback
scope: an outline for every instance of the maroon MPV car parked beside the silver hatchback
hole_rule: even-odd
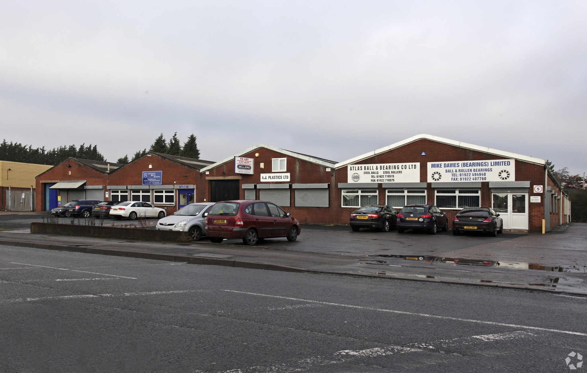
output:
[[[298,220],[266,201],[217,202],[206,219],[206,234],[214,243],[221,243],[224,238],[242,238],[247,245],[272,237],[295,241],[300,231]]]

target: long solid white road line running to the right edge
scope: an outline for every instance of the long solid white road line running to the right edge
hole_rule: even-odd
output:
[[[287,300],[302,301],[302,302],[317,303],[317,304],[337,305],[339,307],[357,308],[359,310],[380,311],[380,312],[393,312],[395,314],[440,318],[442,320],[478,322],[479,324],[498,325],[498,326],[501,326],[501,327],[523,328],[523,329],[529,329],[529,330],[551,331],[551,332],[564,333],[564,334],[583,335],[584,337],[587,337],[587,333],[581,333],[581,332],[576,332],[576,331],[558,330],[558,329],[540,328],[540,327],[530,327],[528,325],[505,324],[504,322],[472,320],[472,319],[468,319],[468,318],[451,317],[451,316],[420,314],[420,313],[417,313],[417,312],[386,310],[385,308],[363,307],[363,306],[360,306],[360,305],[340,304],[340,303],[323,302],[323,301],[315,301],[315,300],[292,298],[292,297],[282,297],[280,295],[248,293],[247,291],[237,291],[237,290],[224,290],[224,291],[230,291],[231,293],[239,293],[239,294],[258,295],[260,297],[287,299]]]

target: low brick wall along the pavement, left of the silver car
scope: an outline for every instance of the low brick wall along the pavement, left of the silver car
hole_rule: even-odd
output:
[[[63,234],[98,238],[117,238],[137,241],[189,242],[187,232],[139,228],[77,226],[75,224],[31,223],[31,233]]]

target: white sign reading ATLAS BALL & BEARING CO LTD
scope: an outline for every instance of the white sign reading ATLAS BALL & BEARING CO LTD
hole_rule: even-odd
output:
[[[419,183],[420,163],[351,164],[348,183]]]

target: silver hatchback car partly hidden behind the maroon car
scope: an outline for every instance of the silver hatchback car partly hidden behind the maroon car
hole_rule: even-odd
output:
[[[215,202],[192,203],[178,210],[175,214],[157,221],[157,230],[178,230],[190,234],[194,241],[199,241],[205,233],[206,217]]]

